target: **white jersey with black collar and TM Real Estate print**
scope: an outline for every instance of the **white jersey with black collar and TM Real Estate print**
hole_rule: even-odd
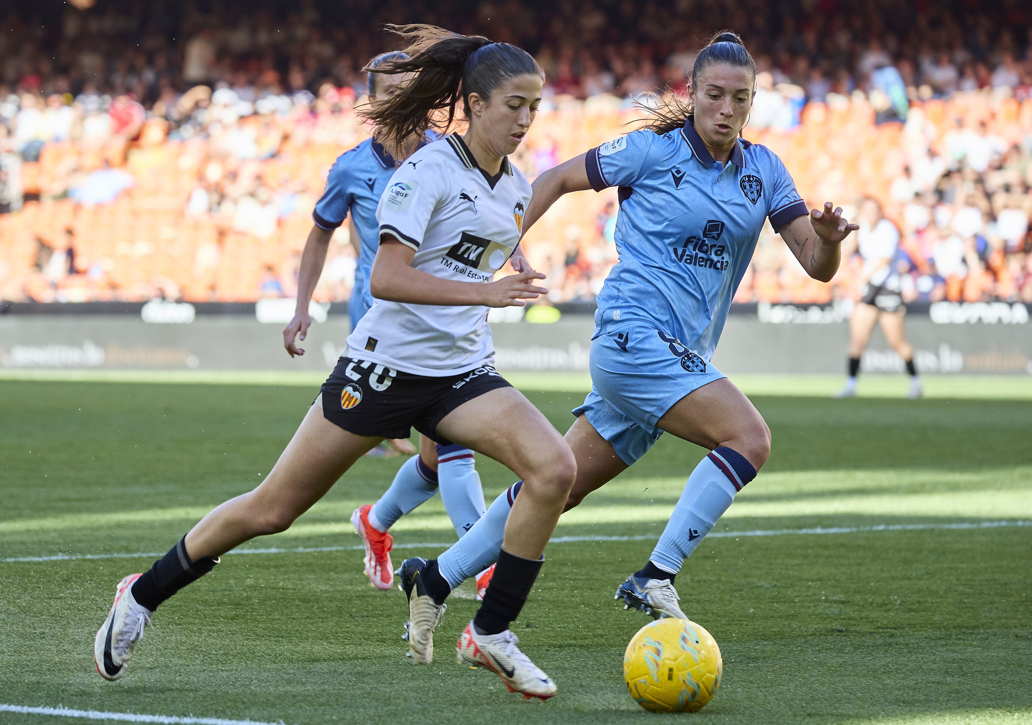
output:
[[[428,143],[406,161],[380,199],[380,237],[416,251],[412,266],[443,279],[488,283],[519,243],[530,185],[502,160],[490,180],[461,137]],[[418,375],[445,376],[494,361],[487,307],[378,299],[348,337],[345,355]]]

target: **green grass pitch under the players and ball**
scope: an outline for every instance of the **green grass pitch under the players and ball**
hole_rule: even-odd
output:
[[[514,629],[557,683],[551,701],[525,702],[455,664],[451,648],[476,608],[467,587],[438,630],[434,663],[411,664],[404,595],[372,589],[360,553],[340,550],[358,543],[352,508],[378,497],[400,459],[363,459],[294,528],[245,546],[336,551],[226,556],[162,606],[127,675],[104,682],[94,633],[116,583],[151,559],[12,559],[166,551],[268,472],[316,388],[283,377],[7,380],[0,705],[286,725],[1032,722],[1029,386],[930,378],[935,397],[908,401],[889,397],[900,380],[862,382],[885,397],[831,400],[808,394],[830,392],[830,380],[744,378],[774,451],[721,535],[678,576],[685,611],[724,658],[716,697],[685,716],[645,713],[621,675],[623,648],[647,620],[613,592],[652,539],[549,547]],[[566,430],[583,381],[550,378],[537,392],[519,382]],[[703,455],[665,436],[563,517],[556,536],[658,537]],[[512,483],[483,456],[478,467],[488,501]],[[1005,525],[949,528],[993,522]],[[897,528],[870,530],[884,526]],[[860,530],[734,534],[816,527]],[[394,533],[395,562],[455,538],[438,498]],[[96,720],[0,708],[4,725],[47,722]]]

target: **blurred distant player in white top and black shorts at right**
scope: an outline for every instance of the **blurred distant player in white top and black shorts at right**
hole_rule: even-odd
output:
[[[860,205],[860,230],[852,239],[842,245],[845,257],[859,252],[864,260],[861,272],[864,283],[860,301],[849,318],[849,362],[845,387],[835,394],[836,398],[851,398],[857,395],[857,376],[860,361],[867,343],[874,332],[874,326],[881,324],[889,345],[895,350],[910,374],[908,398],[922,395],[921,377],[913,364],[913,345],[906,340],[903,320],[906,307],[900,296],[900,273],[897,269],[896,254],[900,245],[900,233],[896,225],[885,219],[877,199],[865,197]]]

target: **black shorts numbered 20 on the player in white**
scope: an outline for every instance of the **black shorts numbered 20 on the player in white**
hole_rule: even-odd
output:
[[[438,424],[464,402],[512,385],[490,365],[458,375],[398,372],[368,360],[341,358],[323,383],[323,416],[355,435],[408,438],[415,428],[442,446]]]

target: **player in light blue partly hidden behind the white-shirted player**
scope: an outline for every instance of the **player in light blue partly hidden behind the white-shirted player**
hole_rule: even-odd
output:
[[[379,100],[390,98],[402,84],[412,79],[411,73],[377,73],[377,66],[385,61],[407,59],[408,56],[404,53],[384,53],[369,61],[366,67],[369,68],[367,83],[370,103],[376,104]],[[437,135],[429,131],[428,138],[437,138]],[[322,274],[330,237],[344,223],[349,211],[352,220],[351,241],[358,254],[355,287],[348,305],[352,328],[358,325],[373,306],[369,271],[379,246],[377,205],[398,164],[404,163],[405,159],[424,144],[423,139],[407,138],[392,145],[392,155],[391,151],[377,140],[374,132],[373,138],[342,154],[333,164],[326,178],[326,191],[312,215],[314,225],[301,256],[297,278],[297,310],[283,331],[284,345],[291,357],[304,354],[304,350],[297,347],[295,337],[300,336],[303,340],[312,325],[312,318],[309,316],[312,293]],[[406,439],[392,442],[402,453],[416,452]],[[365,547],[365,574],[377,589],[389,590],[394,582],[394,567],[390,559],[394,539],[387,533],[388,530],[401,516],[438,491],[441,492],[441,499],[455,532],[461,537],[484,515],[485,509],[480,475],[474,467],[474,453],[464,446],[439,446],[425,435],[420,435],[419,455],[402,464],[387,492],[375,504],[359,506],[352,514],[351,522]],[[484,579],[489,581],[489,575]]]

